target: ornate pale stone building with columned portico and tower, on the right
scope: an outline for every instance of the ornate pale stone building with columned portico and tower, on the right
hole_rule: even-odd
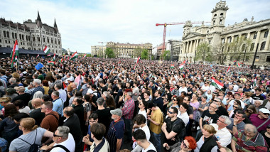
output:
[[[232,26],[225,27],[228,9],[226,1],[218,2],[215,9],[211,11],[212,19],[210,26],[205,26],[204,23],[202,23],[201,26],[193,27],[191,21],[185,23],[185,26],[183,26],[183,41],[181,44],[182,47],[179,60],[189,60],[190,62],[193,62],[195,50],[198,45],[200,43],[209,43],[212,53],[217,56],[220,52],[227,51],[228,55],[225,56],[225,63],[232,63],[232,57],[234,55],[233,49],[229,49],[228,45],[224,48],[222,45],[224,46],[225,44],[232,43],[234,40],[244,37],[245,40],[251,40],[251,45],[248,48],[246,47],[246,53],[243,51],[244,55],[241,58],[241,61],[244,60],[246,65],[252,65],[254,53],[257,48],[256,46],[259,45],[255,57],[255,65],[269,65],[270,19],[256,22],[252,17],[250,21],[244,19],[241,23],[234,23]]]

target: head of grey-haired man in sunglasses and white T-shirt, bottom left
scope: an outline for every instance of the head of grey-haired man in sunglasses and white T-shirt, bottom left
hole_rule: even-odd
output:
[[[62,143],[68,139],[70,128],[68,126],[58,126],[56,131],[53,133],[53,141],[55,143]]]

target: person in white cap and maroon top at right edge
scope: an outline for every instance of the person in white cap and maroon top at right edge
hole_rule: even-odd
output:
[[[270,111],[269,109],[261,108],[259,109],[259,114],[250,115],[249,119],[252,124],[257,127],[258,131],[266,130],[266,126],[270,124]]]

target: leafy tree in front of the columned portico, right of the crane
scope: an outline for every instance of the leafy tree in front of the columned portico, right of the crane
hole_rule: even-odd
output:
[[[195,60],[212,62],[212,52],[209,43],[200,43],[197,47]]]

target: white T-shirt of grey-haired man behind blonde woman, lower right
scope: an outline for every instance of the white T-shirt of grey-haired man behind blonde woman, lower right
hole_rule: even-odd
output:
[[[232,135],[229,132],[229,130],[226,127],[219,130],[217,124],[210,124],[210,125],[214,126],[215,131],[217,131],[215,137],[217,137],[218,142],[220,142],[220,145],[222,147],[227,147],[227,145],[229,145],[229,143],[231,143],[232,141]]]

